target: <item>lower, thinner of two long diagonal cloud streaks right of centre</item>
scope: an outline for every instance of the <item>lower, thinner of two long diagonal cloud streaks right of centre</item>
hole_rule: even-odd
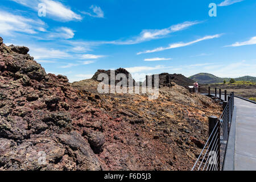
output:
[[[159,52],[159,51],[164,51],[167,49],[173,49],[173,48],[178,48],[178,47],[184,47],[184,46],[189,46],[191,44],[195,44],[197,42],[201,42],[203,40],[208,40],[208,39],[214,39],[214,38],[219,38],[221,36],[221,34],[216,34],[216,35],[209,35],[209,36],[204,36],[203,38],[197,39],[197,40],[193,40],[192,42],[188,42],[188,43],[174,43],[174,44],[170,44],[168,47],[158,47],[152,50],[147,50],[147,51],[143,51],[143,52],[138,52],[137,55],[140,55],[142,53],[152,53],[152,52]]]

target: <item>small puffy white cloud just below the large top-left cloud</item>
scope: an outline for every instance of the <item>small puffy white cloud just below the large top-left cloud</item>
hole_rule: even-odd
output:
[[[51,32],[48,38],[61,38],[61,39],[72,39],[74,37],[74,31],[68,27],[60,27],[56,29],[56,32]]]

